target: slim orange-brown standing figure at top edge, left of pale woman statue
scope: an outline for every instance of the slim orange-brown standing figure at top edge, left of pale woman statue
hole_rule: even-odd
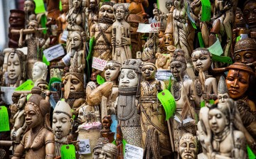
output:
[[[68,21],[66,19],[66,14],[68,13],[68,0],[61,0],[61,6],[63,8],[63,13],[58,16],[56,19],[57,26],[58,26],[58,42],[59,43],[65,43],[63,40],[61,40],[61,37],[63,35],[63,31],[65,31],[66,27],[68,26]]]

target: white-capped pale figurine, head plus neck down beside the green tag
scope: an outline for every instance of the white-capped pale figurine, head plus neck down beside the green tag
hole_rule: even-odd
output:
[[[53,110],[55,157],[60,156],[61,146],[68,143],[68,135],[70,134],[72,124],[73,119],[70,106],[64,101],[59,101]]]

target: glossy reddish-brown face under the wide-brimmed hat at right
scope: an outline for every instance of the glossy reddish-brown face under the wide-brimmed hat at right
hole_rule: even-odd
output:
[[[240,70],[229,70],[226,77],[228,94],[230,98],[239,99],[242,97],[249,87],[250,75]]]

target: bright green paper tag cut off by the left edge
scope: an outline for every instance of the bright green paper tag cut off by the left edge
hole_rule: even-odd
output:
[[[6,106],[0,106],[0,132],[10,131],[9,116]]]

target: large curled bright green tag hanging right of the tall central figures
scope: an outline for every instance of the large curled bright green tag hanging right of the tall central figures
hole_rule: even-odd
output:
[[[176,110],[176,103],[173,95],[169,90],[164,89],[162,92],[157,94],[157,98],[164,106],[164,111],[166,112],[166,121],[174,115]]]

